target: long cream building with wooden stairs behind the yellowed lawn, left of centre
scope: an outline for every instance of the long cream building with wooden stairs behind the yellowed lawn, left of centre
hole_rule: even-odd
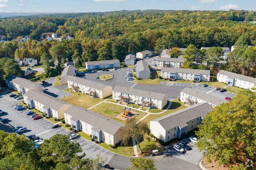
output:
[[[79,77],[70,77],[68,79],[68,88],[74,91],[81,91],[91,97],[104,99],[112,94],[112,87],[91,80]]]

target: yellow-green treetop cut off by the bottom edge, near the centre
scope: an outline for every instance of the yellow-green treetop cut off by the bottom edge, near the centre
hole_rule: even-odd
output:
[[[130,158],[131,166],[127,170],[157,170],[155,161],[144,157]]]

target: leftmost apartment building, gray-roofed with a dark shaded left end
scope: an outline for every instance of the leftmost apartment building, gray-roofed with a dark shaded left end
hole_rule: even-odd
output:
[[[10,89],[19,91],[21,94],[24,94],[29,90],[38,90],[43,92],[43,86],[41,84],[37,84],[16,75],[6,77],[6,86]]]

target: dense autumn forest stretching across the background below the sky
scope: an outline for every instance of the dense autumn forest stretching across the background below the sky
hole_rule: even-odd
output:
[[[248,55],[243,55],[245,45],[256,44],[256,25],[249,22],[253,20],[256,20],[256,13],[244,10],[138,10],[2,18],[0,35],[9,41],[0,43],[0,58],[40,60],[43,55],[43,58],[53,57],[63,63],[66,58],[76,59],[79,61],[76,66],[85,66],[86,61],[93,60],[119,59],[122,62],[128,52],[146,49],[160,53],[166,48],[187,48],[190,44],[196,48],[237,45],[239,49],[232,55],[236,58],[230,58],[232,64],[224,68],[255,77],[248,68],[248,62],[251,65],[246,58]],[[63,39],[69,35],[72,39],[41,40],[42,33],[48,32],[57,33]],[[25,35],[29,35],[30,40],[17,42]],[[255,55],[250,56],[252,64]]]

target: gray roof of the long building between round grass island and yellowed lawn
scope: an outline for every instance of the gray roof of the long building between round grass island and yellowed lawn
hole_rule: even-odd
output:
[[[75,82],[75,83],[78,83],[78,84],[82,84],[84,86],[91,87],[91,88],[94,88],[94,89],[97,89],[97,90],[104,90],[106,87],[108,87],[105,84],[101,84],[101,83],[98,83],[98,82],[94,82],[94,81],[91,81],[91,80],[82,79],[80,77],[74,77],[74,76],[70,77],[68,79],[68,81],[72,81],[72,82]]]

